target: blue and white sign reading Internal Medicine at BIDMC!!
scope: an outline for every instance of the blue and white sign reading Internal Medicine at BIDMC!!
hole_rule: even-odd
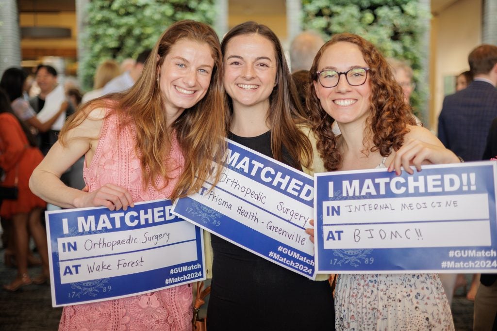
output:
[[[318,273],[495,272],[496,162],[316,174]]]

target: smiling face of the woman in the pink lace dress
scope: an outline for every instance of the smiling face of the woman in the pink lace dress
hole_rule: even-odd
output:
[[[180,39],[160,68],[160,88],[168,117],[177,117],[207,93],[214,60],[206,43]]]

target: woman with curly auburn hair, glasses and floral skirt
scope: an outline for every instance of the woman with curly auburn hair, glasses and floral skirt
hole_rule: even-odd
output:
[[[413,174],[421,164],[459,159],[416,126],[386,60],[370,42],[334,35],[310,70],[307,106],[328,171],[387,168]],[[341,134],[331,130],[336,121]],[[312,231],[309,231],[312,233]],[[336,330],[454,330],[436,274],[340,274]]]

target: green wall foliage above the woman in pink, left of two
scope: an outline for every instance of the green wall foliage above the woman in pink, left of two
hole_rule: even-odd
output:
[[[135,59],[152,48],[172,23],[193,19],[211,24],[215,0],[91,0],[86,8],[79,74],[91,89],[96,67],[106,59]]]

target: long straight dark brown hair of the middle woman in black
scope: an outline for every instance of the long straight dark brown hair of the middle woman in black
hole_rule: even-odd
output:
[[[271,128],[273,158],[283,161],[282,146],[284,146],[295,162],[292,166],[298,169],[301,166],[310,167],[313,157],[312,146],[307,136],[297,128],[297,125],[305,123],[302,117],[304,111],[278,37],[267,26],[248,21],[235,26],[225,35],[221,43],[221,51],[225,54],[226,47],[232,38],[248,34],[258,34],[269,40],[273,44],[276,55],[276,86],[269,96],[267,113]],[[231,98],[228,98],[231,104]]]

